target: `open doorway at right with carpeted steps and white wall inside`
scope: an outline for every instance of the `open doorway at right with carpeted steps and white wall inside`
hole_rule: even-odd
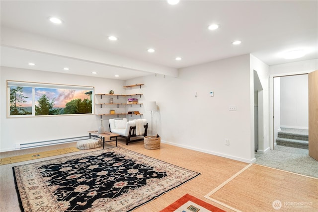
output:
[[[274,150],[308,155],[308,74],[274,82]]]

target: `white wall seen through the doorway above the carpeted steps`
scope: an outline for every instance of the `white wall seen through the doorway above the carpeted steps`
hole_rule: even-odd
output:
[[[308,130],[308,74],[280,78],[280,127]]]

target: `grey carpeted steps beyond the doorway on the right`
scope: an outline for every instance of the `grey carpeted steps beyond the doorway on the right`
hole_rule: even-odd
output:
[[[281,128],[276,143],[282,146],[308,149],[308,130]]]

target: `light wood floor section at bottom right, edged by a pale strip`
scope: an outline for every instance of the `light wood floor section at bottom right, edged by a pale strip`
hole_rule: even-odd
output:
[[[277,200],[279,211],[317,212],[318,179],[253,164],[210,197],[242,212],[276,211]]]

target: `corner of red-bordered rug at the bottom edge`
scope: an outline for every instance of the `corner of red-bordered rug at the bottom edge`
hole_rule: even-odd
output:
[[[160,212],[225,212],[189,194],[184,195]]]

